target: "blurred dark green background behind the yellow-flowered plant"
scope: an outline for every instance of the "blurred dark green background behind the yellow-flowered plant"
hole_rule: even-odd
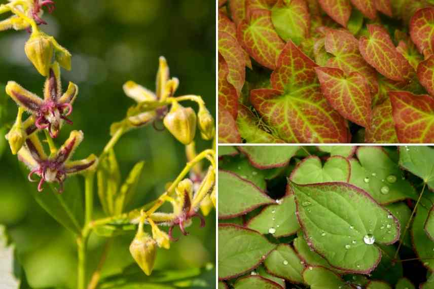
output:
[[[99,155],[110,138],[110,124],[121,120],[134,103],[124,95],[123,83],[134,80],[155,90],[160,55],[166,57],[171,76],[179,78],[176,95],[201,95],[215,114],[215,2],[58,0],[54,13],[46,12],[43,18],[49,25],[42,29],[73,55],[72,70],[62,69],[61,73],[64,89],[68,81],[80,88],[71,115],[74,125],[65,125],[56,141],[60,145],[70,130],[83,130],[85,138],[75,159],[91,153]],[[28,37],[26,31],[0,33],[0,83],[14,80],[42,96],[44,78],[24,54]],[[6,97],[2,91],[1,102]],[[194,103],[188,105],[197,110]],[[12,124],[16,112],[17,106],[8,98],[2,121]],[[5,128],[0,131],[0,224],[7,226],[32,287],[74,288],[77,278],[74,235],[31,197],[30,190],[36,190],[36,185],[27,181],[27,171],[10,153],[5,132]],[[210,146],[210,142],[199,138],[198,133],[198,151]],[[124,135],[115,152],[123,179],[136,162],[146,161],[130,208],[157,198],[186,162],[184,146],[167,131],[158,132],[152,126]],[[83,195],[83,179],[77,179],[81,190],[74,193]],[[70,180],[69,185],[72,182],[75,181]],[[95,205],[96,214],[102,215],[96,196]],[[206,221],[206,227],[200,229],[198,220],[194,220],[188,228],[191,232],[188,237],[181,237],[170,250],[159,249],[156,269],[215,263],[215,213],[211,212]],[[177,229],[175,232],[178,236]],[[132,238],[133,234],[115,239],[103,275],[120,272],[133,262],[128,251]],[[103,244],[103,238],[91,235],[88,272],[95,268]]]

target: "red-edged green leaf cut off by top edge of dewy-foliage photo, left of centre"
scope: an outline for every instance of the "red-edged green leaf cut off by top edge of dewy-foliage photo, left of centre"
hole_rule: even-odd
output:
[[[238,149],[247,156],[252,166],[266,169],[287,165],[300,146],[244,146]]]

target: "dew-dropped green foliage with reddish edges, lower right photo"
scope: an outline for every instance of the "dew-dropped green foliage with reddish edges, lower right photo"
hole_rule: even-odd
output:
[[[434,149],[219,147],[219,288],[432,288]]]

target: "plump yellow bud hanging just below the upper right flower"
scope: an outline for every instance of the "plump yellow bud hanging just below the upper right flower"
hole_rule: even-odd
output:
[[[176,102],[164,117],[164,126],[172,135],[184,144],[189,144],[196,134],[196,114],[191,107],[184,107]]]

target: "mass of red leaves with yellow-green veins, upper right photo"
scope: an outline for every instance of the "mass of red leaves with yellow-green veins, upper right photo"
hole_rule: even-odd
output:
[[[220,142],[434,141],[432,1],[219,8]]]

